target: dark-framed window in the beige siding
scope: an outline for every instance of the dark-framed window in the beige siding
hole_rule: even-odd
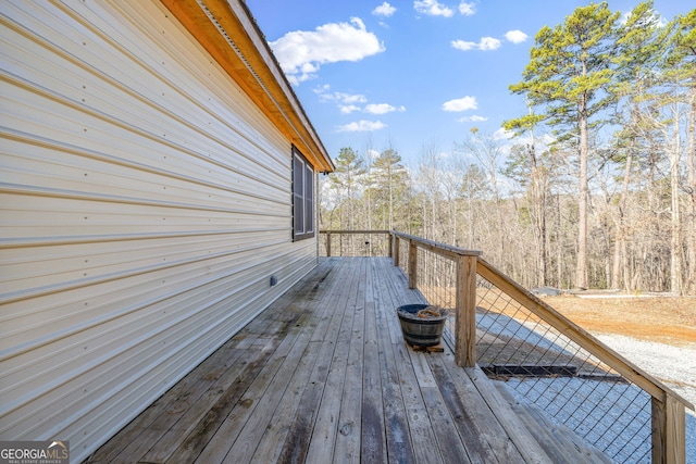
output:
[[[314,168],[293,147],[293,239],[314,237]]]

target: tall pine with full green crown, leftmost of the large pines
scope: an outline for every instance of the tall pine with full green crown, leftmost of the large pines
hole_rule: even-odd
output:
[[[612,13],[606,2],[591,3],[577,8],[559,26],[543,27],[535,37],[523,80],[510,86],[510,90],[524,95],[530,105],[539,110],[537,122],[544,121],[554,128],[559,143],[568,142],[577,151],[580,217],[575,285],[581,288],[588,286],[591,130],[598,115],[614,101],[611,57],[618,18],[619,13]],[[530,124],[529,115],[520,121],[520,125],[525,124]]]

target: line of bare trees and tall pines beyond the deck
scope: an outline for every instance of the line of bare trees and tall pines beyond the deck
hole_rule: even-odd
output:
[[[322,228],[483,250],[527,287],[696,293],[696,10],[666,23],[577,8],[535,36],[510,90],[527,112],[451,150],[344,148]]]

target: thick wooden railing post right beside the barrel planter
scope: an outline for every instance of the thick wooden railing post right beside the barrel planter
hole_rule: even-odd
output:
[[[455,362],[476,365],[476,256],[457,259]]]

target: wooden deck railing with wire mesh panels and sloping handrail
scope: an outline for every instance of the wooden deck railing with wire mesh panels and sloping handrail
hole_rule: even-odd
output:
[[[478,364],[507,380],[514,394],[614,462],[685,462],[685,407],[694,406],[512,281],[482,252],[388,230],[321,235],[322,255],[389,256],[410,288],[450,310],[444,338],[460,366]]]

